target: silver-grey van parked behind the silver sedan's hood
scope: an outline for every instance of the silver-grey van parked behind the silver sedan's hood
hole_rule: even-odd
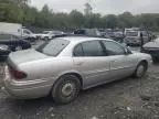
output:
[[[148,36],[148,33],[146,31],[129,31],[129,32],[126,32],[126,37],[125,37],[124,41],[128,45],[140,45],[140,43],[141,43],[140,33],[142,33],[144,43],[149,42],[149,36]]]

